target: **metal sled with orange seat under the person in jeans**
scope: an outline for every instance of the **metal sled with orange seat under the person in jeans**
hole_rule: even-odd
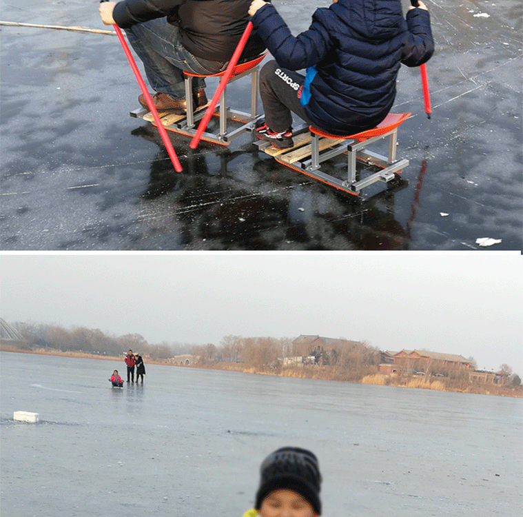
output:
[[[263,58],[267,55],[262,54],[252,61],[240,63],[236,65],[232,72],[232,76],[229,79],[227,85],[234,83],[238,79],[245,76],[251,76],[251,112],[242,112],[239,110],[233,110],[227,106],[227,85],[225,86],[218,105],[214,110],[214,116],[219,116],[219,128],[217,132],[203,132],[201,139],[207,142],[218,143],[220,145],[229,145],[232,139],[242,134],[245,131],[252,131],[254,125],[263,114],[258,114],[258,72],[259,64]],[[194,136],[197,130],[197,123],[203,119],[207,105],[194,110],[194,103],[192,99],[192,78],[193,77],[220,77],[224,72],[212,75],[198,75],[184,72],[185,76],[185,99],[187,99],[187,114],[186,115],[175,115],[167,112],[160,113],[160,118],[163,126],[166,130],[176,132],[178,134],[185,134],[186,136]],[[130,113],[131,116],[143,118],[145,120],[153,122],[152,115],[149,110],[143,108],[134,110]],[[229,120],[240,123],[240,126],[236,124],[234,129],[229,129]],[[153,122],[154,123],[154,122]]]

